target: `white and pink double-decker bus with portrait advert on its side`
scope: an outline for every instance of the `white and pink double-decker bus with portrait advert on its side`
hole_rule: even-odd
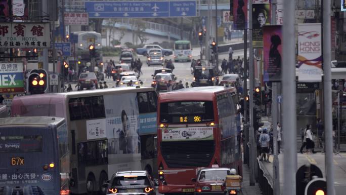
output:
[[[156,106],[153,88],[109,88],[16,97],[12,115],[65,118],[71,192],[92,194],[117,171],[157,174]]]

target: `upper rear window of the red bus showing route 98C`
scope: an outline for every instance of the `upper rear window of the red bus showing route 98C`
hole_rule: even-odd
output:
[[[160,105],[161,123],[205,123],[213,120],[211,101],[165,102]]]

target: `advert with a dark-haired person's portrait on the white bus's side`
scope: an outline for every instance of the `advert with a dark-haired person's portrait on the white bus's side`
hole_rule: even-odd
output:
[[[110,154],[140,153],[140,118],[136,94],[105,95],[106,132]]]

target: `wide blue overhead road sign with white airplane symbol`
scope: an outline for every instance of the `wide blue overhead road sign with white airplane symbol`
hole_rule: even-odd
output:
[[[196,0],[84,2],[89,18],[156,18],[197,16]]]

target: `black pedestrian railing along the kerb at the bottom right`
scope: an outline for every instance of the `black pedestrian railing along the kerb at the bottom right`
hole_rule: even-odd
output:
[[[267,170],[264,168],[262,163],[257,158],[257,166],[258,166],[258,185],[262,191],[263,195],[273,195],[273,179],[271,178],[269,173],[266,173]]]

